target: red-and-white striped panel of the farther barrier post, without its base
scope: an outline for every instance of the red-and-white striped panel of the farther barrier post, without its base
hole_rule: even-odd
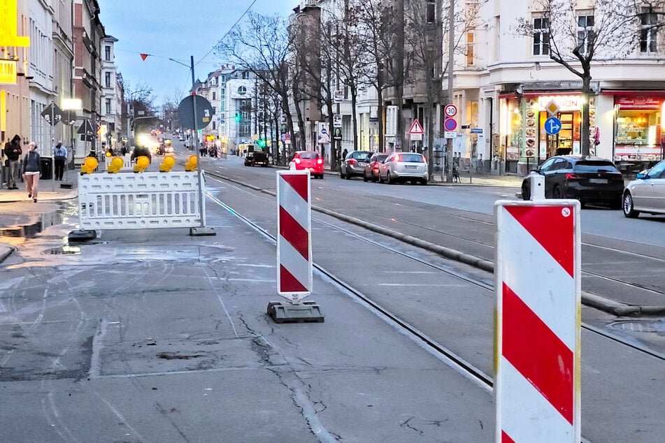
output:
[[[277,173],[278,293],[289,300],[312,288],[310,177],[307,171]]]

